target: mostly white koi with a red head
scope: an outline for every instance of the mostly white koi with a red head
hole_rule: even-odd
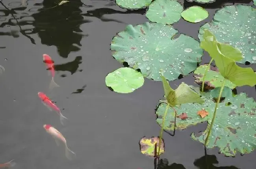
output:
[[[43,127],[45,128],[46,132],[49,133],[54,138],[58,146],[60,142],[62,142],[65,145],[65,156],[69,160],[72,160],[74,157],[76,157],[76,153],[74,153],[68,148],[66,139],[57,129],[52,127],[52,125],[50,124],[45,124],[43,125]]]

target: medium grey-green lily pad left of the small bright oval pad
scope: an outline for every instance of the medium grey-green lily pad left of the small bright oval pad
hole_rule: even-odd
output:
[[[173,24],[180,20],[182,11],[182,5],[176,0],[155,0],[149,5],[146,16],[152,22]]]

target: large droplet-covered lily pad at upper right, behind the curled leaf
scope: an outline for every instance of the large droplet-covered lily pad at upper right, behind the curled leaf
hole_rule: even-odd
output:
[[[204,29],[211,31],[219,42],[237,47],[243,53],[243,59],[256,63],[256,10],[251,6],[226,6],[215,14],[210,23],[204,24],[199,30],[199,39],[203,40]]]

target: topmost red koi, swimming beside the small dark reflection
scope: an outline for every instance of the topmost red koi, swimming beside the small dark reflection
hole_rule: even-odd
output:
[[[54,61],[49,55],[46,55],[46,54],[43,54],[43,61],[46,64],[47,70],[49,70],[50,73],[52,74],[52,80],[50,82],[49,88],[53,89],[54,87],[59,87],[59,85],[54,82],[54,76],[55,76]]]

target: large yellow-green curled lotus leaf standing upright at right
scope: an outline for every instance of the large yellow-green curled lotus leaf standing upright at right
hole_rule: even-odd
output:
[[[204,32],[204,39],[201,41],[200,47],[207,51],[211,58],[214,59],[220,74],[225,77],[225,79],[236,84],[236,86],[254,86],[256,84],[256,74],[253,69],[236,65],[235,61],[241,57],[239,49],[214,40],[214,35],[206,29],[204,29]]]

